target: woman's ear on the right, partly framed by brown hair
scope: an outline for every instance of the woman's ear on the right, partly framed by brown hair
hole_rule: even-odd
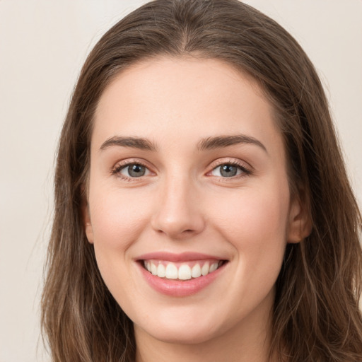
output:
[[[307,207],[298,196],[291,198],[287,243],[299,243],[312,232],[312,221]]]

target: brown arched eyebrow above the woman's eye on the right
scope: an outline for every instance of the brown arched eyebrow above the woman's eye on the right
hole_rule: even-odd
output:
[[[231,136],[216,136],[216,137],[207,137],[206,139],[202,139],[198,148],[200,151],[211,150],[215,148],[223,148],[228,146],[233,146],[235,144],[254,144],[255,146],[259,146],[265,152],[268,153],[267,148],[252,136],[247,136],[246,134],[235,134]]]

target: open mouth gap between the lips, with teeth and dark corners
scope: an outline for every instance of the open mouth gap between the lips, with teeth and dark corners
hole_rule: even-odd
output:
[[[165,260],[148,259],[142,260],[141,264],[144,266],[144,269],[159,278],[187,281],[211,274],[226,262],[226,260],[216,259],[193,262],[168,262]]]

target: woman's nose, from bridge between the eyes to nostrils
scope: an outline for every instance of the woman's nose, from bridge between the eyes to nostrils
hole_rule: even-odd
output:
[[[204,230],[199,192],[186,177],[165,180],[158,192],[152,227],[174,240],[191,238]]]

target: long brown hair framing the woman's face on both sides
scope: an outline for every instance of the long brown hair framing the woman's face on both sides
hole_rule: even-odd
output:
[[[313,64],[286,30],[239,1],[156,0],[95,45],[64,122],[42,296],[53,361],[134,361],[132,322],[100,276],[81,205],[100,95],[122,69],[158,55],[227,62],[255,78],[274,105],[291,192],[303,200],[313,231],[286,248],[276,281],[272,351],[290,362],[362,359],[361,214]]]

